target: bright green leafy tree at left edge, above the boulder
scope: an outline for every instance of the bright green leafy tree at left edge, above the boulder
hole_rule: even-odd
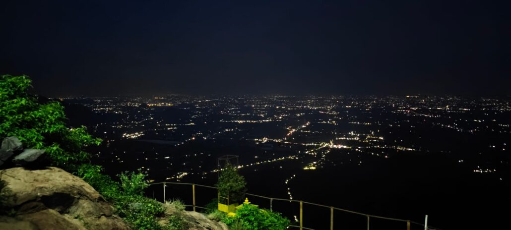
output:
[[[28,76],[0,75],[0,139],[16,136],[26,148],[44,149],[51,166],[75,170],[88,159],[83,148],[99,145],[84,126],[67,128],[59,102],[41,104],[28,93]]]

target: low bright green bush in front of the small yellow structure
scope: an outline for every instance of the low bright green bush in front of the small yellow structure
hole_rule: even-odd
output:
[[[237,221],[240,223],[236,223]],[[236,216],[226,217],[222,219],[222,222],[229,226],[242,225],[247,230],[282,230],[289,226],[289,220],[282,217],[280,213],[259,209],[250,204],[243,204],[236,211]]]

